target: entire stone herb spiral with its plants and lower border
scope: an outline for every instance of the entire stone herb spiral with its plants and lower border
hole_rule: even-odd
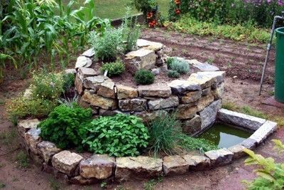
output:
[[[10,100],[21,144],[43,171],[75,184],[185,174],[229,164],[275,130],[221,109],[219,68],[168,57],[169,47],[139,33],[135,19],[92,31],[74,69],[33,73]],[[199,137],[217,122],[251,135],[229,147]]]

